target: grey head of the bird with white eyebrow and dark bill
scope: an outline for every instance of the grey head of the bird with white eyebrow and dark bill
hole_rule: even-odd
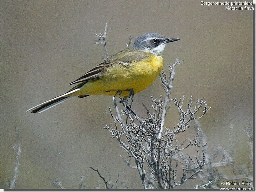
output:
[[[133,49],[158,55],[163,54],[164,47],[167,43],[178,40],[180,39],[167,38],[159,33],[146,33],[135,39]]]

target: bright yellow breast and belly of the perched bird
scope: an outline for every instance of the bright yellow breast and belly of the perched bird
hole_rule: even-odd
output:
[[[163,57],[150,55],[147,59],[135,62],[132,66],[120,64],[107,68],[99,80],[90,81],[76,92],[76,95],[110,95],[122,91],[122,96],[129,96],[146,89],[163,69]]]

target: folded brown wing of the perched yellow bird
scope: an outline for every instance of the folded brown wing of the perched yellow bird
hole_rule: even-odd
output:
[[[86,83],[88,81],[100,79],[103,75],[104,69],[112,66],[113,64],[121,64],[126,67],[129,67],[132,65],[132,62],[142,60],[146,57],[148,57],[148,54],[145,52],[135,51],[130,48],[124,49],[123,51],[120,51],[119,53],[116,53],[115,55],[111,56],[110,58],[108,58],[108,60],[104,61],[103,63],[100,63],[100,65],[97,65],[95,68],[88,71],[82,77],[79,77],[75,81],[69,83],[69,85],[79,82]]]

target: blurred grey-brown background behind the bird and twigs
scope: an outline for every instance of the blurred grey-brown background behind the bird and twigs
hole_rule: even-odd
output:
[[[252,11],[225,11],[200,1],[1,1],[0,181],[13,177],[18,127],[22,152],[15,188],[54,188],[48,178],[55,176],[64,187],[78,188],[85,174],[86,188],[95,188],[100,178],[90,166],[107,176],[106,167],[113,179],[125,170],[128,188],[142,187],[137,171],[120,157],[125,152],[119,143],[103,129],[112,122],[111,97],[77,98],[41,114],[25,112],[67,91],[69,82],[102,61],[104,48],[94,45],[93,34],[103,32],[106,22],[110,55],[126,47],[129,35],[180,38],[164,50],[165,70],[176,57],[184,60],[176,68],[171,97],[205,96],[211,110],[200,123],[208,148],[228,146],[234,124],[236,166],[250,165],[244,130],[252,121]],[[150,106],[151,95],[163,94],[157,79],[135,95],[134,110],[145,116],[141,103]],[[177,121],[171,108],[165,126]]]

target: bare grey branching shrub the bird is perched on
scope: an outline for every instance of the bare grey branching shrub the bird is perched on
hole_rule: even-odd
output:
[[[180,112],[180,122],[177,124],[178,127],[175,128],[174,131],[170,131],[167,128],[166,131],[164,131],[164,117],[167,103],[171,95],[174,67],[179,63],[180,61],[177,59],[172,67],[170,65],[169,80],[167,80],[165,73],[162,73],[161,80],[163,86],[166,88],[166,97],[165,99],[160,97],[159,100],[151,98],[154,113],[150,112],[144,105],[147,110],[147,117],[139,117],[132,110],[132,102],[128,104],[130,101],[121,97],[120,103],[123,104],[124,109],[120,112],[116,97],[113,98],[116,116],[112,113],[111,109],[109,109],[111,117],[114,119],[115,128],[110,127],[108,124],[106,124],[105,128],[112,134],[112,138],[116,138],[121,144],[121,147],[134,158],[136,166],[132,166],[130,160],[128,161],[123,157],[124,162],[129,167],[138,170],[144,188],[154,188],[155,182],[157,182],[159,188],[174,188],[180,186],[184,182],[196,178],[196,175],[202,171],[205,164],[204,152],[203,160],[200,160],[198,151],[196,160],[193,160],[191,157],[185,158],[185,155],[181,155],[182,153],[180,152],[188,146],[204,147],[206,145],[206,143],[198,141],[199,131],[197,131],[195,139],[188,140],[189,143],[186,146],[185,141],[179,145],[173,143],[173,141],[177,142],[175,138],[176,134],[186,131],[191,121],[200,119],[209,110],[204,98],[196,101],[196,107],[193,110],[191,107],[192,97],[188,102],[187,110],[182,109],[185,95],[183,95],[183,98],[180,100],[176,98],[173,99],[175,106]],[[119,95],[121,96],[121,93],[119,93]],[[196,114],[201,108],[204,108],[203,115],[197,117]],[[126,123],[124,123],[121,113],[126,117]],[[118,130],[116,121],[121,127],[121,130]],[[179,155],[177,156],[177,154]],[[173,169],[172,163],[170,165],[167,164],[168,158],[172,157],[186,166],[180,180],[177,180],[176,176],[178,165],[176,164],[175,169]],[[145,162],[147,163],[149,173],[147,173],[144,168]],[[188,170],[191,169],[191,167],[193,167],[193,170],[189,173]]]

